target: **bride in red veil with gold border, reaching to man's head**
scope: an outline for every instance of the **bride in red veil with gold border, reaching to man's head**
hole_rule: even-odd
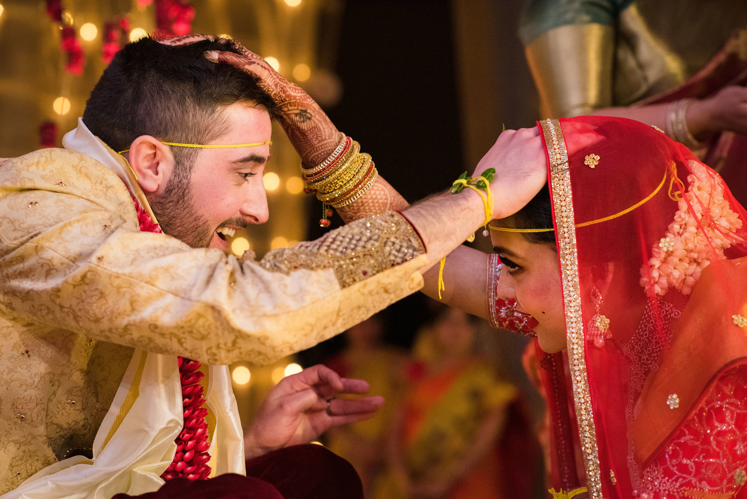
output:
[[[297,149],[326,157],[338,146],[323,111],[261,58],[220,60],[262,78],[288,110],[282,124]],[[294,121],[301,108],[312,123]],[[506,155],[507,144],[522,149]],[[685,146],[633,120],[506,131],[476,171],[506,157],[546,161],[548,183],[486,227],[495,255],[465,246],[449,255],[441,298],[536,336],[551,492],[747,497],[744,208]],[[347,222],[405,206],[379,177],[338,211]],[[438,297],[438,268],[424,277],[423,291]]]

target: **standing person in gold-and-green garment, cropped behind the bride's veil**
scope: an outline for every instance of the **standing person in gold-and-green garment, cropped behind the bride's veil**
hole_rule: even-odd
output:
[[[527,0],[519,30],[543,118],[656,125],[747,204],[747,2]]]

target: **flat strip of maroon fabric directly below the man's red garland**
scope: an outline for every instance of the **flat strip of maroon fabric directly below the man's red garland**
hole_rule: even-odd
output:
[[[112,499],[283,499],[270,483],[255,477],[224,474],[210,480],[190,481],[175,478],[161,489],[148,494],[131,496],[117,494]]]

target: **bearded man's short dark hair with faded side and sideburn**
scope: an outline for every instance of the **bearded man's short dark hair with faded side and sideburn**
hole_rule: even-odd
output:
[[[83,122],[115,151],[140,135],[178,143],[209,143],[228,131],[221,108],[237,102],[279,114],[259,79],[205,52],[240,53],[233,40],[167,46],[144,37],[114,55],[86,102]],[[189,176],[199,149],[172,148],[177,175]]]

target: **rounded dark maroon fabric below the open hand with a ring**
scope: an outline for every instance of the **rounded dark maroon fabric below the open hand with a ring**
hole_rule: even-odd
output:
[[[355,468],[317,444],[294,445],[248,459],[247,476],[272,483],[285,499],[363,499]]]

